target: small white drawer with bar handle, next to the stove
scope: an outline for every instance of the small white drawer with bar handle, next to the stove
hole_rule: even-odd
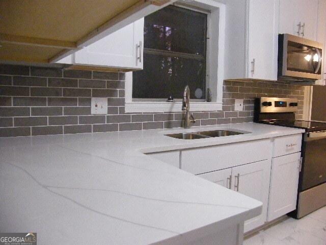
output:
[[[301,152],[301,141],[302,134],[275,138],[273,144],[273,157]]]

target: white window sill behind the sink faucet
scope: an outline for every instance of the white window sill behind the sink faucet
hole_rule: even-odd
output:
[[[182,102],[126,102],[125,112],[181,112]],[[191,111],[221,111],[222,103],[190,102]]]

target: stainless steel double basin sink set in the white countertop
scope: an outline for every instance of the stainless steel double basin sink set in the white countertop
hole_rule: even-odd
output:
[[[177,139],[203,139],[211,137],[222,137],[230,135],[244,134],[229,130],[213,130],[213,131],[201,131],[201,132],[191,132],[191,133],[178,133],[178,134],[166,134],[166,136],[177,138]]]

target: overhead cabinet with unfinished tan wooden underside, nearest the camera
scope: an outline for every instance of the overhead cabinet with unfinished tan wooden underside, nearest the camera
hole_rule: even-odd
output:
[[[51,63],[175,0],[2,0],[0,60]]]

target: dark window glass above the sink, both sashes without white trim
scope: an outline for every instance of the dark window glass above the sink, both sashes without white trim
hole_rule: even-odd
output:
[[[207,13],[168,6],[145,17],[144,69],[133,72],[132,98],[206,97]]]

